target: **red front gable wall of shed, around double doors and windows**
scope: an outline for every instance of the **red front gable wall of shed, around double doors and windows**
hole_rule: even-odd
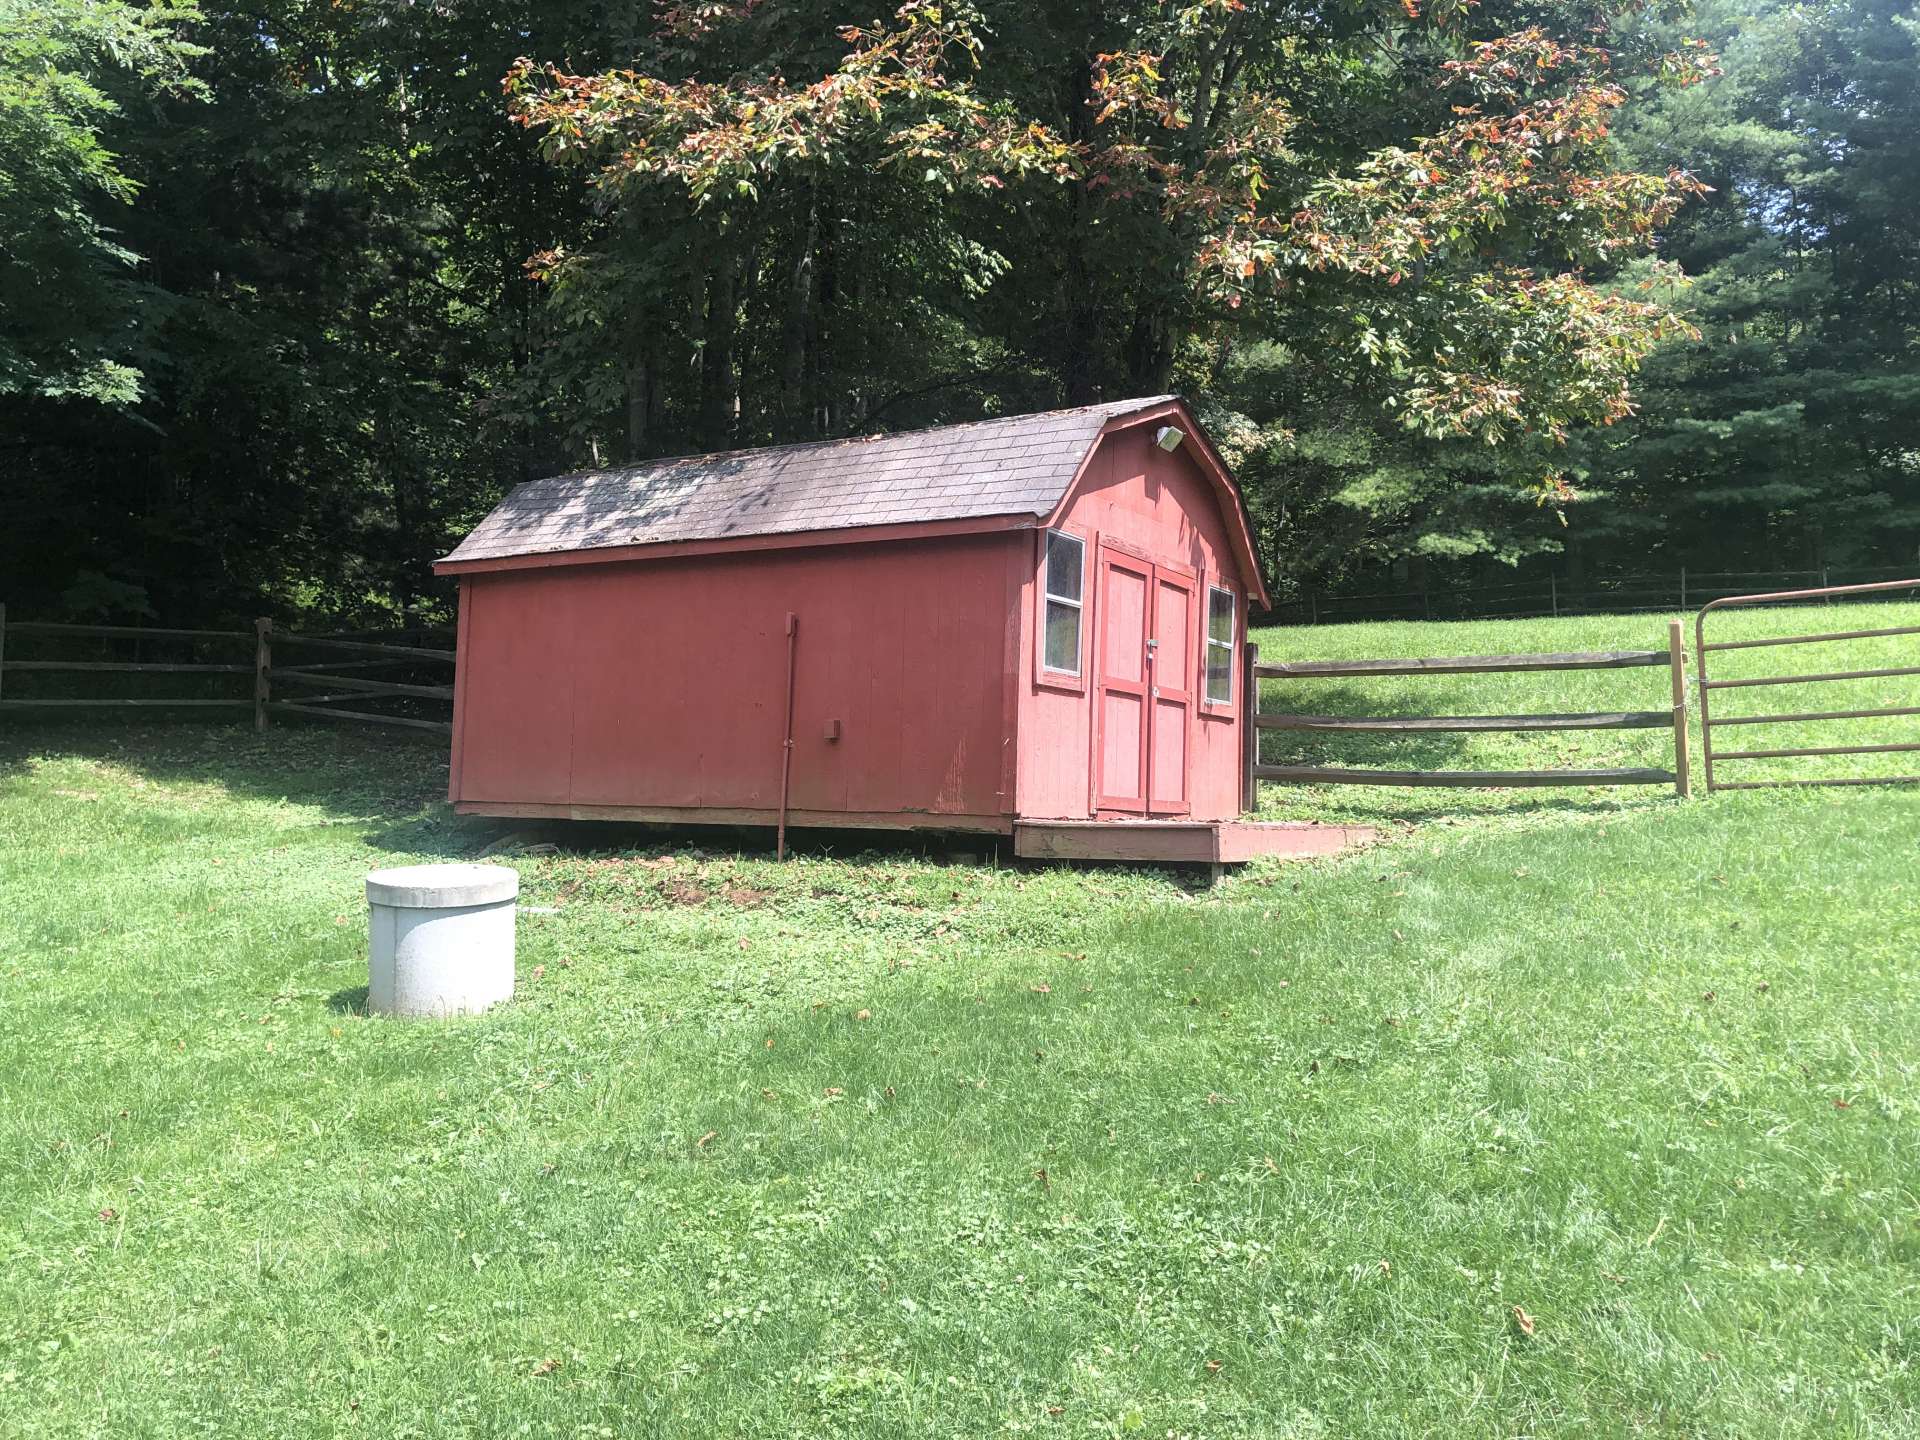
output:
[[[1187,628],[1192,632],[1181,657],[1187,689],[1200,695],[1206,645],[1206,586],[1227,584],[1238,595],[1244,626],[1246,586],[1233,559],[1227,520],[1213,488],[1185,453],[1171,455],[1152,444],[1154,424],[1116,430],[1089,457],[1079,482],[1060,513],[1060,526],[1087,540],[1089,609],[1085,691],[1046,685],[1035,672],[1039,612],[1039,549],[1029,555],[1021,597],[1020,666],[1020,814],[1033,818],[1087,818],[1092,810],[1096,662],[1092,637],[1102,634],[1102,595],[1096,584],[1096,547],[1108,543],[1158,564],[1183,566],[1196,576]],[[1223,580],[1225,576],[1225,580]],[[1238,676],[1235,678],[1238,684]],[[1187,803],[1196,820],[1231,820],[1240,810],[1238,705],[1210,714],[1192,707],[1188,730]],[[1171,753],[1169,756],[1171,758]]]

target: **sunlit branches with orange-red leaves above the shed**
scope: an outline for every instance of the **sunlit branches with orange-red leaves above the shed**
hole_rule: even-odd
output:
[[[670,13],[678,35],[699,38],[753,4]],[[1409,2],[1398,23],[1452,35],[1469,8],[1448,0],[1423,17]],[[1615,165],[1609,134],[1630,79],[1615,56],[1538,27],[1478,42],[1440,67],[1450,123],[1350,173],[1311,175],[1286,104],[1221,79],[1244,77],[1250,23],[1240,0],[1202,0],[1171,13],[1164,46],[1098,56],[1087,142],[985,98],[979,36],[925,0],[841,31],[839,65],[806,84],[572,75],[528,60],[505,84],[515,119],[551,156],[595,163],[597,184],[670,184],[699,205],[753,204],[783,175],[862,165],[948,192],[1037,179],[1150,207],[1196,303],[1244,317],[1309,286],[1336,296],[1357,321],[1357,363],[1392,376],[1390,405],[1427,434],[1561,440],[1628,415],[1632,372],[1686,326],[1584,271],[1644,253],[1705,186]],[[1697,46],[1651,69],[1676,84],[1715,73]],[[1200,77],[1204,119],[1183,108],[1181,75]]]

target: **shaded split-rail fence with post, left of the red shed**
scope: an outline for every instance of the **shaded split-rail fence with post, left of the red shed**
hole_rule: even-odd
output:
[[[380,639],[346,634],[307,636],[275,630],[273,620],[265,618],[255,620],[252,630],[8,622],[6,607],[0,605],[0,712],[252,710],[259,730],[267,728],[269,716],[301,714],[451,735],[453,722],[447,716],[453,705],[453,651],[424,643],[436,639],[440,632],[374,634]],[[31,647],[35,659],[21,659],[23,647]],[[73,651],[84,651],[86,657],[77,659]],[[167,659],[154,659],[156,653]],[[396,680],[396,672],[407,674],[407,680]],[[190,676],[194,680],[186,684],[192,684],[196,693],[23,697],[17,693],[17,678],[27,674],[90,680],[123,674]],[[227,676],[236,680],[228,682]],[[401,710],[365,708],[394,701]]]

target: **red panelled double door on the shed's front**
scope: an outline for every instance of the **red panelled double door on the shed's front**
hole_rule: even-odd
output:
[[[1100,547],[1094,808],[1187,814],[1194,574]]]

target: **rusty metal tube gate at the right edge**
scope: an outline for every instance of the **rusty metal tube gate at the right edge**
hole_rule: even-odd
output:
[[[1772,747],[1772,749],[1749,749],[1749,751],[1715,751],[1713,732],[1724,726],[1778,726],[1778,724],[1811,724],[1820,720],[1880,720],[1891,716],[1920,714],[1920,707],[1914,705],[1887,705],[1868,710],[1791,710],[1776,714],[1730,714],[1715,716],[1711,695],[1718,689],[1753,689],[1761,685],[1818,685],[1837,680],[1882,680],[1891,676],[1920,676],[1920,664],[1895,664],[1882,666],[1874,670],[1826,670],[1820,674],[1791,674],[1791,676],[1741,676],[1738,680],[1713,680],[1707,674],[1707,657],[1724,651],[1745,651],[1770,645],[1822,645],[1836,639],[1878,639],[1885,636],[1920,636],[1920,626],[1882,626],[1878,630],[1822,630],[1809,636],[1766,636],[1763,639],[1707,639],[1707,616],[1734,609],[1738,605],[1782,605],[1793,601],[1812,601],[1841,597],[1860,597],[1860,595],[1884,595],[1891,591],[1912,591],[1920,588],[1920,580],[1884,580],[1870,586],[1818,586],[1814,589],[1789,589],[1789,591],[1768,591],[1761,595],[1730,595],[1724,599],[1709,601],[1699,609],[1693,618],[1693,655],[1699,680],[1699,743],[1701,743],[1701,772],[1707,781],[1707,793],[1718,789],[1776,789],[1789,785],[1914,785],[1920,783],[1920,776],[1818,776],[1818,778],[1795,778],[1795,780],[1718,780],[1715,776],[1716,764],[1726,764],[1730,760],[1793,760],[1801,756],[1816,755],[1905,755],[1910,751],[1920,751],[1920,743],[1895,741],[1882,745],[1797,745],[1797,747]]]

